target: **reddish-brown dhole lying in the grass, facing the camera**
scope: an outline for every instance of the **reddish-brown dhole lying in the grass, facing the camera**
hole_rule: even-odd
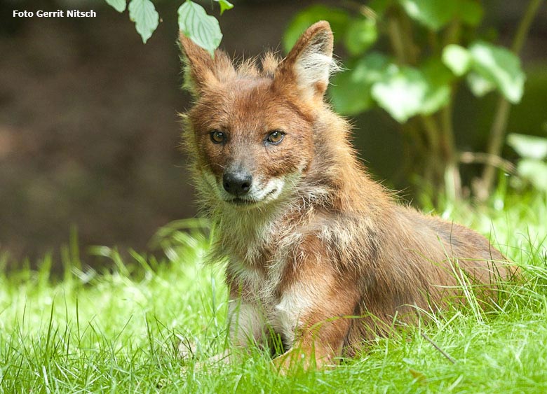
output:
[[[228,261],[235,346],[269,346],[274,332],[287,350],[278,367],[320,367],[420,309],[464,300],[462,283],[494,297],[496,279],[511,274],[501,253],[466,227],[396,204],[356,159],[348,123],[323,97],[336,68],[327,22],[259,68],[180,42],[194,97],[184,143],[215,226],[212,260]]]

